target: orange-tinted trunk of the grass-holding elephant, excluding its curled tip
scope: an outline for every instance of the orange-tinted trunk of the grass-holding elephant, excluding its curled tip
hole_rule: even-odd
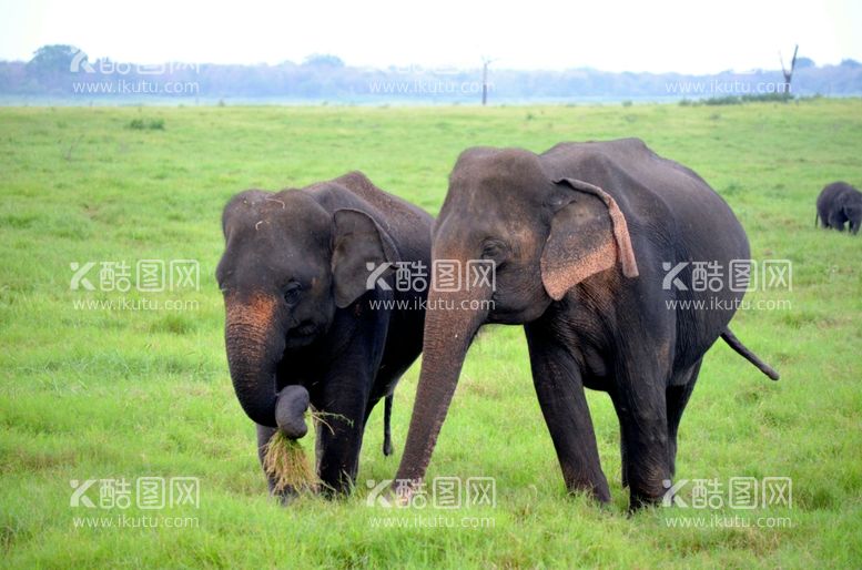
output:
[[[257,296],[226,303],[225,345],[231,380],[245,414],[261,426],[276,427],[275,369],[284,337],[273,326],[275,302]]]

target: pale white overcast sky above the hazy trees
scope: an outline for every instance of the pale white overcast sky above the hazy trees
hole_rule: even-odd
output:
[[[778,68],[800,44],[819,64],[862,61],[862,1],[404,0],[239,2],[0,0],[0,59],[48,43],[134,63],[352,65],[711,73]]]

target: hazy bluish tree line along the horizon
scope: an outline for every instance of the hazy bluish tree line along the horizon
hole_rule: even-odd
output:
[[[90,60],[72,45],[45,45],[30,61],[0,61],[0,94],[60,99],[101,96],[205,100],[274,99],[329,102],[480,102],[483,68],[445,69],[346,65],[331,54],[295,63],[236,65],[212,63],[134,64]],[[485,86],[488,101],[595,99],[709,99],[780,92],[782,70],[724,71],[710,75],[681,73],[491,69]],[[113,85],[113,86],[112,86]],[[115,89],[123,86],[123,90]],[[142,88],[143,85],[143,88]],[[131,88],[130,88],[131,86]],[[169,89],[173,86],[173,89]],[[183,89],[176,89],[178,86]],[[103,89],[102,89],[103,88]],[[144,89],[146,88],[146,89]],[[844,60],[817,65],[800,57],[792,95],[862,95],[862,64]]]

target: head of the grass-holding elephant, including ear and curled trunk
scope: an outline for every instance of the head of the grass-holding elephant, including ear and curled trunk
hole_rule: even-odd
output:
[[[366,293],[366,263],[395,261],[395,247],[367,213],[327,211],[301,190],[242,192],[225,206],[222,227],[216,279],[236,397],[256,424],[294,426],[288,430],[301,437],[307,394],[276,398],[303,380],[288,373],[290,358],[326,335],[336,311]],[[286,401],[294,397],[305,406]]]

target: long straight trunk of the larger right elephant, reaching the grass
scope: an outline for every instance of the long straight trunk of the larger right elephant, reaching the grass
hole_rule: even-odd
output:
[[[428,296],[416,400],[397,479],[425,477],[467,349],[488,314],[490,291]]]

